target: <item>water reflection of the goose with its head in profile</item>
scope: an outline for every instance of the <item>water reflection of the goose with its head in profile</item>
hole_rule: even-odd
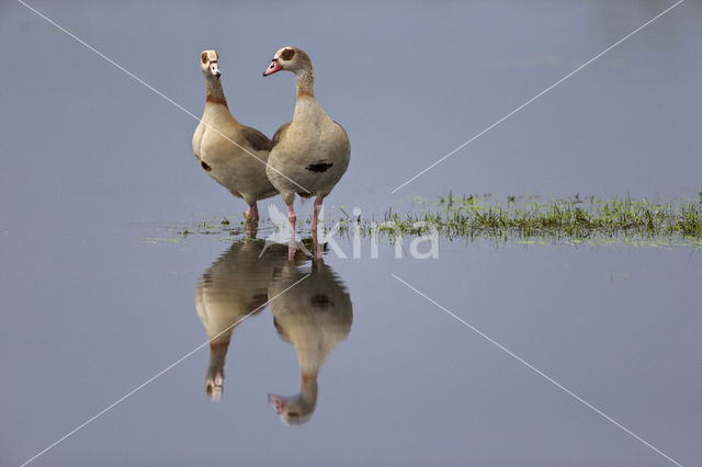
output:
[[[275,271],[269,287],[274,296],[306,275],[293,262]],[[327,355],[351,331],[351,297],[333,271],[315,260],[309,277],[271,301],[273,322],[282,338],[295,346],[299,363],[299,394],[269,395],[287,425],[304,423],[317,405],[317,375]]]

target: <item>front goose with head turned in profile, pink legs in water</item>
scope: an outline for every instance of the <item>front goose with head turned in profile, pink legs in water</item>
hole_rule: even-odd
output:
[[[295,234],[295,193],[316,196],[312,230],[317,232],[321,203],[349,167],[351,145],[347,132],[332,121],[315,99],[315,75],[305,50],[283,47],[275,53],[263,76],[292,71],[297,79],[297,102],[293,121],[273,136],[267,174],[287,205],[287,217]]]

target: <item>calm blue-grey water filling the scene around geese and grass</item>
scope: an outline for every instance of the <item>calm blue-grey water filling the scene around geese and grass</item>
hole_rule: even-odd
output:
[[[260,75],[281,46],[304,47],[353,147],[332,215],[449,190],[697,197],[692,0],[389,193],[671,3],[31,2],[195,114],[197,57],[216,48],[233,112],[269,135],[292,115],[293,80]],[[1,465],[202,344],[32,465],[673,465],[390,274],[702,465],[699,252],[442,241],[435,260],[387,244],[372,260],[364,240],[358,260],[290,263],[226,236],[151,241],[245,209],[197,168],[195,122],[20,3],[0,3],[0,26]],[[213,330],[307,273],[223,335],[211,401]],[[290,398],[287,424],[269,395]]]

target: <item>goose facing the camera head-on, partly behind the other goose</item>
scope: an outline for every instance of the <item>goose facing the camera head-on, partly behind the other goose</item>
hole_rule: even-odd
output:
[[[231,116],[222,89],[218,61],[215,50],[204,50],[200,57],[207,99],[193,135],[193,152],[210,176],[246,201],[247,220],[256,220],[259,218],[256,202],[278,193],[265,175],[271,140]]]

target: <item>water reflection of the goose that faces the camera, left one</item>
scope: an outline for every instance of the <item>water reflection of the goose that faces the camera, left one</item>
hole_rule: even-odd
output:
[[[263,309],[273,266],[283,261],[287,252],[283,249],[281,255],[281,247],[273,246],[259,258],[263,246],[262,240],[253,239],[233,244],[205,271],[195,289],[197,316],[210,338],[205,391],[215,400],[222,397],[224,364],[235,323],[257,308]]]

